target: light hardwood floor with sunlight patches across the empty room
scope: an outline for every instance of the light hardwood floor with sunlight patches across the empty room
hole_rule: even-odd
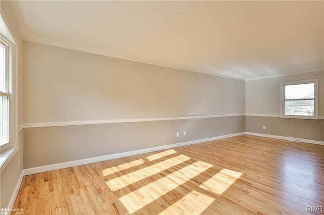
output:
[[[324,214],[324,146],[242,135],[25,176],[23,214]],[[13,214],[15,214],[13,212]]]

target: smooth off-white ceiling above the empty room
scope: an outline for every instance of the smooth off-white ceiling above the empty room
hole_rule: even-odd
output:
[[[12,1],[22,37],[243,79],[324,68],[323,1]]]

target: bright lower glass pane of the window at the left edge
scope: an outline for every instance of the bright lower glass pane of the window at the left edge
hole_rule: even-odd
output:
[[[0,97],[0,145],[8,142],[8,128],[9,128],[9,100],[7,96]]]

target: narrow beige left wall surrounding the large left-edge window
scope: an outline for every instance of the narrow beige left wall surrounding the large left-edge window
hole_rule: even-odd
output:
[[[18,54],[19,54],[19,92],[18,92],[18,123],[19,126],[23,124],[23,42],[21,39],[21,36],[19,34],[15,18],[13,14],[11,13],[11,9],[9,7],[9,4],[7,1],[1,1],[0,3],[1,9],[3,10],[7,20],[9,23],[11,33],[13,34],[14,38],[16,39],[16,42],[18,43]],[[4,171],[1,173],[0,176],[0,208],[1,207],[7,207],[9,200],[13,194],[13,191],[17,185],[19,176],[21,174],[21,171],[23,169],[23,131],[19,132],[19,150],[16,152],[16,154],[13,156],[13,158],[8,163],[7,167],[4,169]],[[19,168],[17,167],[17,159],[19,157]]]

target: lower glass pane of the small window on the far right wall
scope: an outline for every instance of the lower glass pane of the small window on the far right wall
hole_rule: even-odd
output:
[[[285,101],[285,115],[314,116],[314,100]]]

